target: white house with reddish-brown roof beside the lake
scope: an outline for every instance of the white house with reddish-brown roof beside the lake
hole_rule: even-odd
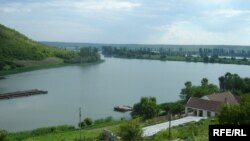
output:
[[[222,104],[239,104],[240,96],[231,92],[214,93],[201,98],[190,97],[185,105],[185,114],[210,117],[215,116]]]

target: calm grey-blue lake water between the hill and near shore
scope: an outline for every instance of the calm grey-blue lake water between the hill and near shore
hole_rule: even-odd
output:
[[[200,84],[203,77],[218,84],[226,72],[250,77],[250,66],[172,61],[105,58],[94,65],[66,66],[9,75],[0,80],[0,92],[42,89],[47,95],[0,101],[0,129],[29,130],[78,122],[83,118],[129,117],[113,111],[116,105],[133,105],[142,96],[158,103],[179,99],[188,80]]]

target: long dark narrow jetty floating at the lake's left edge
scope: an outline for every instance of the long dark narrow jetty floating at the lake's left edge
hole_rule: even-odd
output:
[[[38,90],[38,89],[26,90],[26,91],[15,91],[15,92],[0,94],[0,100],[32,96],[32,95],[38,95],[38,94],[47,94],[47,93],[48,91],[43,91],[43,90]]]

